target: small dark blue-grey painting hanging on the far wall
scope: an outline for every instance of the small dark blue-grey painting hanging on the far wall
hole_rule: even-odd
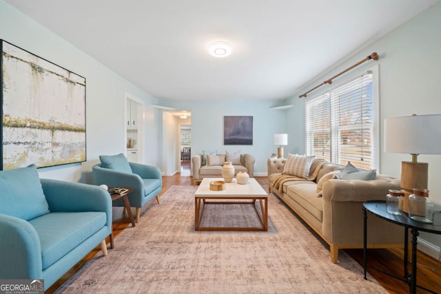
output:
[[[224,145],[253,145],[252,116],[224,116]]]

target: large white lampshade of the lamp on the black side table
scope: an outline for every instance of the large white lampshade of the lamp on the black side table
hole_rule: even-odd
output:
[[[441,114],[384,119],[384,151],[441,154]]]

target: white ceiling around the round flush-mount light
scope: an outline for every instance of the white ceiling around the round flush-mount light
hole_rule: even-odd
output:
[[[201,100],[289,98],[437,0],[6,1],[156,98]]]

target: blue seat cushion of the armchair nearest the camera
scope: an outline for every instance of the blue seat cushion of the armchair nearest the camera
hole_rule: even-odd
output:
[[[105,226],[101,211],[53,212],[30,220],[39,235],[43,270]]]

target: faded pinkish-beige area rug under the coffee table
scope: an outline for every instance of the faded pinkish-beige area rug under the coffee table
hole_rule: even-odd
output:
[[[195,231],[195,191],[170,187],[56,293],[387,293],[345,252],[333,264],[329,247],[273,194],[267,232]],[[203,218],[244,225],[257,218],[249,207],[216,204]]]

